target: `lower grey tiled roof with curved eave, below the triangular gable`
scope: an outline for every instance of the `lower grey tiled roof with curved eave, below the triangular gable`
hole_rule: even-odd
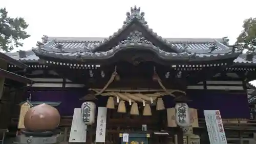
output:
[[[58,59],[78,60],[81,57],[84,57],[85,59],[90,60],[104,60],[114,56],[115,52],[122,48],[127,49],[140,47],[140,49],[148,49],[158,53],[158,55],[165,60],[185,60],[193,62],[209,59],[226,59],[227,57],[233,57],[238,54],[236,52],[230,52],[231,50],[228,46],[222,44],[216,39],[164,39],[169,45],[181,51],[180,53],[166,52],[155,46],[152,42],[142,39],[143,35],[139,31],[131,33],[131,35],[135,34],[136,37],[127,37],[127,39],[119,42],[117,46],[105,52],[92,52],[95,48],[94,46],[96,45],[97,47],[100,41],[87,41],[87,38],[78,38],[79,40],[75,41],[74,38],[48,38],[48,40],[52,40],[45,43],[44,46],[41,47],[40,51],[38,49],[34,49],[34,51],[36,53],[56,57]],[[133,41],[133,38],[137,39],[137,41]],[[61,45],[61,49],[58,48],[58,45]],[[212,45],[215,45],[217,48],[209,53],[209,47]],[[186,52],[184,51],[184,47],[186,47]]]

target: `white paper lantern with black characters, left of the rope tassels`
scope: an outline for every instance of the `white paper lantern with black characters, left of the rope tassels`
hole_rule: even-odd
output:
[[[82,121],[86,125],[92,125],[94,124],[94,118],[95,118],[95,109],[96,105],[94,102],[84,102],[82,103]]]

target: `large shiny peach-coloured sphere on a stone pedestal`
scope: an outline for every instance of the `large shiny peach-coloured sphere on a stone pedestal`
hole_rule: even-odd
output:
[[[28,131],[51,131],[57,128],[59,123],[58,110],[45,103],[30,108],[24,118],[24,126]]]

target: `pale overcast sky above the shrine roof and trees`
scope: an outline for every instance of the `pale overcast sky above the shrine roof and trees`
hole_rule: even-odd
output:
[[[42,35],[49,37],[109,37],[121,28],[125,13],[141,7],[150,28],[164,38],[222,38],[233,43],[243,20],[256,17],[256,0],[61,1],[0,0],[11,17],[24,17],[31,49]],[[15,49],[15,51],[18,49]]]

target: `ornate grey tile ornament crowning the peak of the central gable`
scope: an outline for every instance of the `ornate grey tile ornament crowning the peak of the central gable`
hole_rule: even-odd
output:
[[[132,22],[133,19],[138,19],[142,24],[147,24],[144,18],[145,13],[140,12],[140,7],[137,8],[137,6],[131,7],[131,13],[126,12],[126,20],[123,22],[123,24],[129,24]]]

